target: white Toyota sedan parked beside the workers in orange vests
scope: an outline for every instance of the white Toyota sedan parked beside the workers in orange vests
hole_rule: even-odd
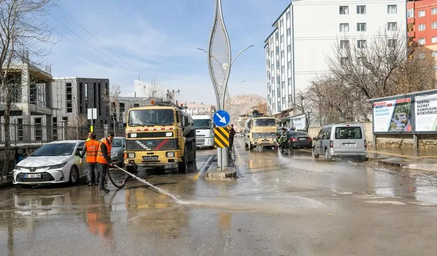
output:
[[[66,140],[47,143],[23,159],[13,171],[14,184],[77,183],[86,176],[80,152],[85,141]]]

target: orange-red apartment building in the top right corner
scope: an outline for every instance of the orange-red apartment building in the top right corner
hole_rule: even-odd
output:
[[[407,22],[409,44],[428,48],[419,57],[425,58],[425,54],[437,57],[437,1],[407,2]]]

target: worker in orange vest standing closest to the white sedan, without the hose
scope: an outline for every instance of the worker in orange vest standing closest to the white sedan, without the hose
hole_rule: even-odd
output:
[[[88,185],[92,186],[99,182],[99,170],[97,170],[97,151],[99,142],[96,140],[96,135],[91,133],[88,141],[85,142],[85,147],[80,154],[80,163],[86,153],[86,169],[88,170]],[[97,179],[95,179],[97,177]]]

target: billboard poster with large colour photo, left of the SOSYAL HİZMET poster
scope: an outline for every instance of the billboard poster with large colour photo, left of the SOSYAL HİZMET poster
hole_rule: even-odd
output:
[[[411,98],[373,103],[373,129],[381,132],[411,132]]]

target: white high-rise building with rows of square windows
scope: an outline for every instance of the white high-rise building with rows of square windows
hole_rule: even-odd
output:
[[[265,41],[269,113],[292,109],[296,92],[328,73],[337,41],[365,47],[384,30],[406,37],[406,12],[405,0],[292,1]]]

